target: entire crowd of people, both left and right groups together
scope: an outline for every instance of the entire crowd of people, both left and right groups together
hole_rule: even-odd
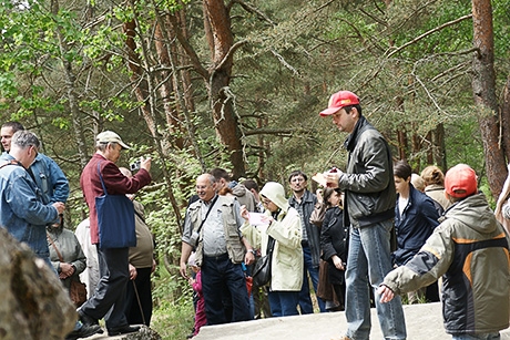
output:
[[[288,197],[280,183],[259,189],[223,168],[196,178],[180,261],[196,292],[191,337],[206,324],[313,313],[315,296],[319,312],[345,310],[344,340],[369,339],[371,307],[385,339],[406,339],[402,298],[416,303],[440,295],[453,339],[499,339],[510,318],[510,257],[496,215],[510,219],[510,181],[494,215],[468,165],[446,175],[428,166],[418,175],[406,161],[394,162],[354,93],[332,95],[320,116],[348,133],[349,155],[345,172],[322,174],[315,194],[302,171],[288,175]],[[1,144],[2,227],[70,291],[86,284],[67,339],[102,332],[100,319],[109,336],[149,326],[154,241],[133,195],[151,182],[151,158],[141,158],[135,175],[119,168],[130,147],[114,132],[100,133],[80,179],[90,217],[73,234],[63,218],[68,179],[39,153],[37,135],[9,122]]]

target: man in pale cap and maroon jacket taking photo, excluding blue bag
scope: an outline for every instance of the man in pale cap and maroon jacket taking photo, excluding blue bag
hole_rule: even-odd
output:
[[[80,307],[78,313],[85,324],[94,324],[104,317],[110,337],[139,330],[131,327],[124,315],[126,284],[130,278],[129,248],[105,248],[99,246],[98,212],[95,197],[104,195],[99,171],[108,195],[134,194],[151,183],[151,158],[141,159],[140,171],[129,178],[115,162],[122,150],[129,150],[121,137],[112,132],[100,133],[95,138],[95,154],[81,174],[81,188],[90,209],[91,241],[98,247],[101,279],[92,297]],[[98,171],[99,167],[99,171]]]

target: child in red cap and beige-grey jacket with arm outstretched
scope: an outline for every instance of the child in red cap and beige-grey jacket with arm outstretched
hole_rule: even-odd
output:
[[[446,195],[453,204],[441,224],[406,266],[389,272],[380,301],[426,287],[442,276],[442,316],[453,340],[500,339],[510,318],[509,238],[496,220],[477,175],[466,164],[445,176]]]

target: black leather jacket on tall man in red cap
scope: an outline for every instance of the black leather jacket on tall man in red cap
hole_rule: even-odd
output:
[[[365,227],[392,218],[397,194],[391,152],[385,137],[360,116],[344,146],[349,159],[338,187],[345,192],[348,221]]]

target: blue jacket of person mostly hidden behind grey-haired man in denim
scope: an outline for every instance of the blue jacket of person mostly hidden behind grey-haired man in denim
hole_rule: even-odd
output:
[[[35,183],[42,190],[43,203],[55,203],[68,200],[69,182],[59,165],[43,154],[38,154],[35,161],[30,165]]]

